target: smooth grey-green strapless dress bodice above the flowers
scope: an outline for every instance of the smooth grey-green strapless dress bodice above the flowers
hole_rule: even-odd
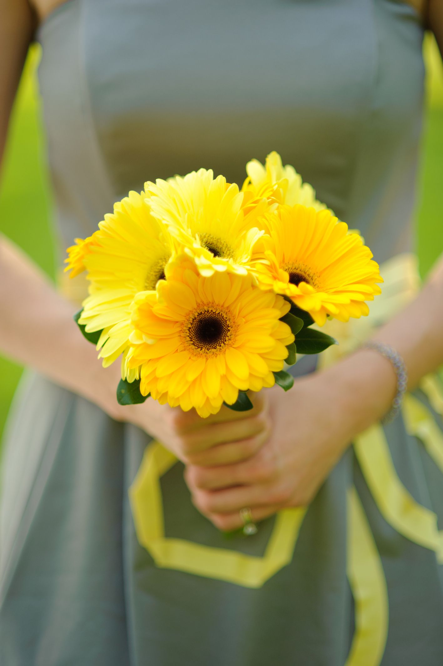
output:
[[[418,13],[396,0],[68,0],[39,30],[62,244],[145,180],[276,150],[381,262],[408,248]]]

